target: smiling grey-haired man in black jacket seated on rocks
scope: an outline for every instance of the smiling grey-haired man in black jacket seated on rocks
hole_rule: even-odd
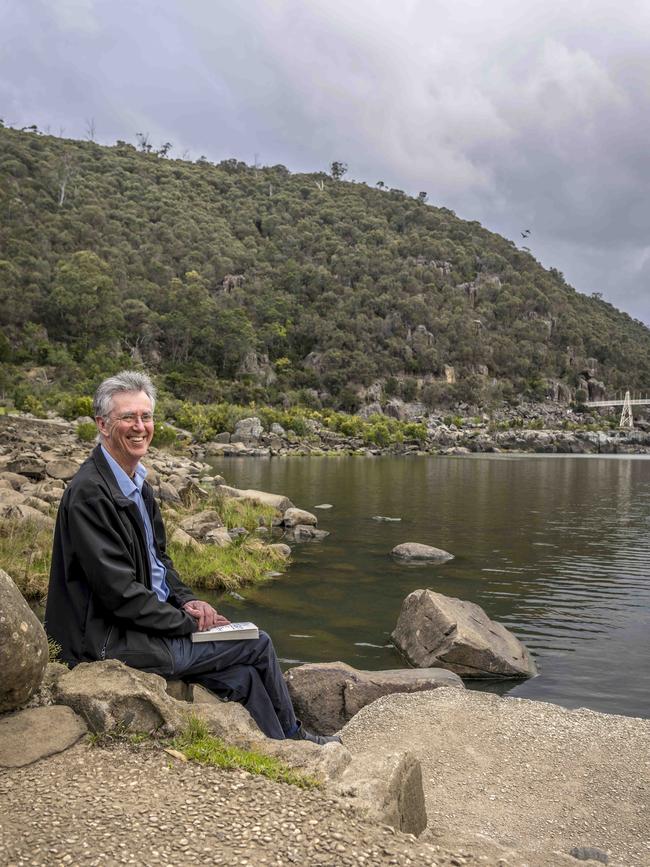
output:
[[[122,371],[95,393],[99,444],[66,489],[56,521],[45,612],[65,662],[119,659],[203,684],[240,701],[272,738],[339,741],[296,720],[271,639],[205,641],[191,634],[228,620],[183,584],[140,463],[153,437],[156,390]]]

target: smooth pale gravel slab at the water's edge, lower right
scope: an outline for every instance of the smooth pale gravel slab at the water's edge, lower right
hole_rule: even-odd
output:
[[[421,839],[473,849],[492,840],[540,867],[574,847],[608,852],[616,867],[650,865],[650,720],[438,689],[368,705],[343,742],[353,753],[399,744],[417,755]]]

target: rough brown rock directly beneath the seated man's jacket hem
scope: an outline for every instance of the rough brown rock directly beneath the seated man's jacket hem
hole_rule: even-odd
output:
[[[182,703],[167,695],[163,677],[117,659],[75,666],[59,678],[55,700],[82,716],[93,732],[129,729],[168,735],[185,723]]]

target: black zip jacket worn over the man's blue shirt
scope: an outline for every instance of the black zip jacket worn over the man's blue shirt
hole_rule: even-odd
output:
[[[70,665],[120,659],[134,668],[169,675],[173,668],[164,638],[196,631],[196,620],[181,610],[196,596],[180,580],[165,552],[160,510],[146,482],[142,495],[158,556],[167,568],[167,602],[161,602],[151,588],[138,508],[120,491],[100,446],[63,494],[54,531],[45,628]]]

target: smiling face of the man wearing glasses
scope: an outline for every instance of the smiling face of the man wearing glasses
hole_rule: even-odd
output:
[[[153,437],[151,401],[144,391],[118,391],[108,418],[95,421],[102,445],[122,469],[132,476],[146,455]]]

